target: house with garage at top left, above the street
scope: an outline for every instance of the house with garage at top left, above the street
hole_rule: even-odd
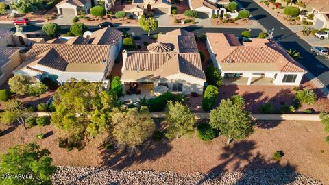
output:
[[[104,2],[104,7],[106,10],[112,8],[112,0],[101,0]],[[88,14],[90,8],[97,5],[98,1],[96,0],[64,0],[56,5],[58,14],[64,15],[75,15],[77,16],[79,11]]]

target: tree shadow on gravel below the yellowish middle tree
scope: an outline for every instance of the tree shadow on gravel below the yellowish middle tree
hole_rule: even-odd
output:
[[[156,141],[150,138],[139,146],[137,151],[134,153],[128,151],[127,149],[120,149],[119,147],[104,149],[108,143],[114,143],[111,136],[109,136],[107,141],[99,147],[99,149],[103,149],[101,153],[103,161],[100,166],[122,170],[126,167],[130,167],[132,164],[141,164],[147,161],[154,161],[166,155],[169,151],[171,151],[171,146],[169,145],[170,140],[167,140],[167,138],[164,137],[164,127],[161,124],[162,121],[163,119],[154,119],[154,122],[156,123],[156,130],[160,130],[162,132],[162,139],[160,141]]]

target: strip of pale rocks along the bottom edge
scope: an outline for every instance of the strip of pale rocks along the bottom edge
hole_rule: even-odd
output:
[[[106,167],[58,167],[53,184],[322,184],[290,169],[248,169],[180,175],[169,171],[116,171]]]

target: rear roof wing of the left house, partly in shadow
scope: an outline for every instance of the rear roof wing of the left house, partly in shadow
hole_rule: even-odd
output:
[[[90,36],[92,45],[115,45],[121,39],[122,32],[111,27],[99,29]]]

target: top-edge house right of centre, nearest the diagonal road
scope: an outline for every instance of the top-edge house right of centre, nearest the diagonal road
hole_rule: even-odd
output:
[[[228,3],[230,3],[229,0],[188,0],[190,9],[199,12],[197,15],[199,18],[211,18],[212,14],[223,17],[226,14],[223,5]]]

